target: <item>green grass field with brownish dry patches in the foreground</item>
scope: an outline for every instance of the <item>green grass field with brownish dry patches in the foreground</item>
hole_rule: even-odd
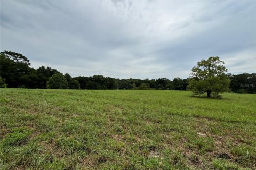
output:
[[[0,89],[0,169],[255,169],[256,95]]]

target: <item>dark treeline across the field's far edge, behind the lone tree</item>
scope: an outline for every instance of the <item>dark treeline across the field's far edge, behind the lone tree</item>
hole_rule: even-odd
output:
[[[0,52],[0,87],[38,88],[46,89],[46,83],[56,73],[51,67],[41,66],[38,69],[30,67],[28,58],[22,54],[4,51]],[[90,77],[71,77],[64,74],[69,89],[156,89],[156,90],[186,90],[187,79],[115,79],[93,75]],[[232,92],[256,92],[256,73],[228,74],[231,80]],[[54,79],[52,79],[54,80]],[[77,81],[78,82],[77,82]]]

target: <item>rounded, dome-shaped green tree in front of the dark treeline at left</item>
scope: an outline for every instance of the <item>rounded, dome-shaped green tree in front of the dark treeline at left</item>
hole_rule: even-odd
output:
[[[48,89],[68,89],[68,81],[61,73],[55,73],[47,81],[46,86]]]

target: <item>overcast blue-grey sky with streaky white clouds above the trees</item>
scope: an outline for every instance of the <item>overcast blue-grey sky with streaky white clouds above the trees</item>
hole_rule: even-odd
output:
[[[256,72],[256,1],[0,0],[0,50],[72,77],[188,78],[219,56]]]

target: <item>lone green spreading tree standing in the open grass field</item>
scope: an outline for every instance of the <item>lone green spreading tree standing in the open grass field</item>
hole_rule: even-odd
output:
[[[206,92],[208,98],[212,93],[218,96],[220,92],[227,92],[230,80],[226,72],[224,62],[218,56],[201,60],[191,69],[188,89],[192,90],[195,95]]]

